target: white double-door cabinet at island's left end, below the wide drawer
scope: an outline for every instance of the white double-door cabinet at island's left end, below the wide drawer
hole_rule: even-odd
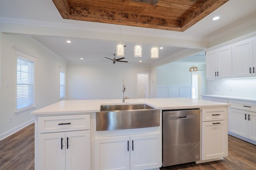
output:
[[[89,170],[90,130],[38,135],[39,170]]]

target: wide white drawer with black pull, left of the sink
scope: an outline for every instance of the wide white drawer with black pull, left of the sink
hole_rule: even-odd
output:
[[[38,117],[38,133],[90,129],[90,115]]]

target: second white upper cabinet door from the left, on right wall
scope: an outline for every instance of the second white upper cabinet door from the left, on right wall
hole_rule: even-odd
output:
[[[232,47],[231,46],[226,46],[221,49],[218,49],[217,76],[218,78],[232,77]]]

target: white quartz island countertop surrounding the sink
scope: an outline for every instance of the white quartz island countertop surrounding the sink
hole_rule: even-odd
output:
[[[62,100],[55,104],[33,111],[32,115],[44,114],[70,114],[70,113],[92,113],[100,111],[101,105],[122,104],[147,104],[156,109],[192,109],[207,107],[226,107],[230,104],[211,102],[191,98],[150,98],[150,99],[121,99],[108,100]]]

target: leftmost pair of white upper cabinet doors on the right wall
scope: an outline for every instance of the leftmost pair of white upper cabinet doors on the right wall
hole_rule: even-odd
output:
[[[206,52],[206,78],[232,77],[232,47],[226,46]]]

